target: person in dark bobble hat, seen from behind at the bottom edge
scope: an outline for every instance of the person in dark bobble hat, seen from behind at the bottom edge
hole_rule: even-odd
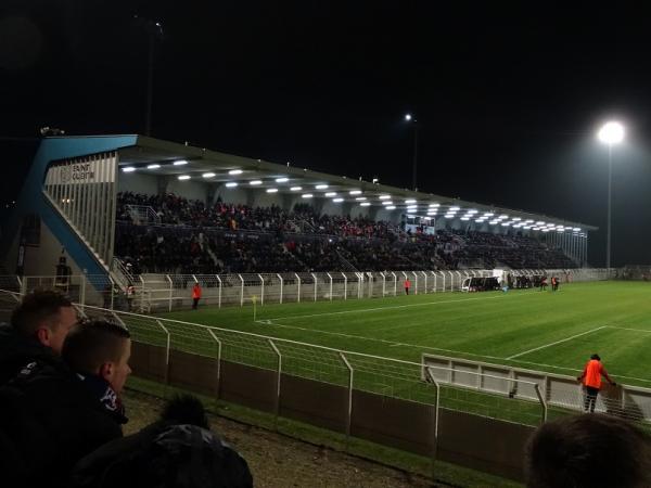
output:
[[[246,461],[209,428],[201,401],[176,397],[157,422],[79,461],[72,486],[252,487]]]

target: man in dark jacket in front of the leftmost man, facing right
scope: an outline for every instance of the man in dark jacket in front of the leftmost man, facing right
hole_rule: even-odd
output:
[[[0,388],[0,437],[18,463],[0,470],[3,487],[67,486],[76,462],[122,437],[119,395],[130,373],[129,333],[97,320],[75,325],[61,364],[31,362]],[[2,463],[8,463],[2,461]]]

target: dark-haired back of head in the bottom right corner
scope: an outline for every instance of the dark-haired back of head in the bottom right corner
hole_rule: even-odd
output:
[[[541,425],[526,449],[529,488],[651,486],[651,441],[631,423],[603,414]]]

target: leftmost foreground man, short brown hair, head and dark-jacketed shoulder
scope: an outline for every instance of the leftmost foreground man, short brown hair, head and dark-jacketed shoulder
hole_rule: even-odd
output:
[[[0,325],[0,386],[30,362],[55,364],[77,312],[71,300],[53,290],[26,295],[11,314],[11,324]]]

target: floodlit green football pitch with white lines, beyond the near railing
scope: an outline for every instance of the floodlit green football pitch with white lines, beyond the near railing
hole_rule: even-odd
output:
[[[251,304],[162,317],[414,362],[425,352],[571,375],[598,352],[615,381],[651,387],[649,283],[257,305],[255,320]]]

